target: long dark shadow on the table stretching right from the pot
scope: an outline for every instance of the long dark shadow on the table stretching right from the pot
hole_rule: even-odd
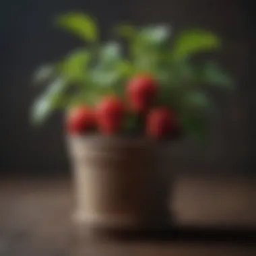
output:
[[[110,238],[121,241],[160,243],[232,243],[256,246],[256,229],[249,228],[164,228],[161,230],[108,231]]]

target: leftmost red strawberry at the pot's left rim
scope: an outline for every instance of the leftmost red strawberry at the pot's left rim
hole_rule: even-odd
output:
[[[69,133],[83,133],[94,126],[94,111],[88,106],[71,108],[67,115],[67,131]]]

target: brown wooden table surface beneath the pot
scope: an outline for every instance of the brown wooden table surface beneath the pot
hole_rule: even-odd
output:
[[[1,179],[0,255],[256,255],[256,179],[177,177],[176,226],[112,240],[78,236],[70,179]]]

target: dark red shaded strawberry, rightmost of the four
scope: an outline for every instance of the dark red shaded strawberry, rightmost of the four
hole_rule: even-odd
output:
[[[153,108],[146,119],[147,134],[155,139],[162,139],[174,131],[175,120],[174,114],[168,108]]]

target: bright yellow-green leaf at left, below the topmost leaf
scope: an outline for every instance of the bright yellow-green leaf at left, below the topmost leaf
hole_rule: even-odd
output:
[[[62,63],[63,75],[73,82],[83,82],[91,57],[91,53],[87,50],[74,51]]]

